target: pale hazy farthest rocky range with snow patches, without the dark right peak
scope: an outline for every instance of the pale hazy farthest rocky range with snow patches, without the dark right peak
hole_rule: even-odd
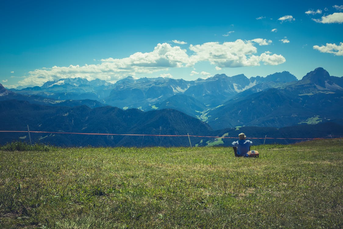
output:
[[[42,87],[10,90],[23,95],[38,95],[55,100],[91,99],[123,109],[140,108],[146,111],[152,110],[157,103],[180,94],[188,95],[199,100],[203,105],[213,108],[254,85],[263,83],[272,87],[295,80],[296,77],[286,71],[250,79],[243,74],[232,77],[221,74],[195,81],[162,77],[140,79],[127,77],[118,80],[115,84],[102,80],[88,81],[72,78],[48,81]]]

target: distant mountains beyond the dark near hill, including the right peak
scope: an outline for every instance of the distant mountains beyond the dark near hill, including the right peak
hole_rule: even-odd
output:
[[[214,129],[244,125],[284,127],[314,116],[322,121],[340,118],[337,104],[343,104],[343,77],[330,76],[323,68],[317,68],[301,80],[288,71],[249,79],[243,74],[220,74],[194,81],[127,77],[115,84],[74,78],[11,91],[15,96],[8,94],[6,98],[42,105],[77,103],[142,111],[172,108],[197,117]],[[31,99],[22,98],[24,95]]]

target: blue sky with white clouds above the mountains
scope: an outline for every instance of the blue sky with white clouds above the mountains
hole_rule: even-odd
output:
[[[342,1],[1,1],[0,83],[343,76]]]

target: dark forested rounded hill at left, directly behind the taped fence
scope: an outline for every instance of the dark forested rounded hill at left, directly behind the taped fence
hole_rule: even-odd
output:
[[[25,112],[23,112],[25,111]],[[118,107],[53,107],[30,104],[27,101],[0,101],[0,130],[51,131],[68,133],[102,134],[149,134],[185,135],[189,133],[206,134],[212,129],[199,119],[182,112],[165,109],[142,112],[138,109],[126,111]],[[10,142],[25,134],[1,133],[0,144]],[[66,146],[150,146],[156,141],[163,146],[184,146],[189,144],[187,137],[130,137],[116,135],[69,135],[36,134],[34,142],[50,142]],[[162,142],[163,139],[163,142]],[[26,139],[27,140],[27,139]]]

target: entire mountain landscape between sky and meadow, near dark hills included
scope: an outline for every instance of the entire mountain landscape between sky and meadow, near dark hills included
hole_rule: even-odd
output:
[[[325,122],[340,125],[343,77],[330,76],[323,68],[317,68],[301,80],[287,71],[250,79],[243,74],[221,74],[194,81],[127,77],[115,84],[73,78],[20,90],[8,90],[0,84],[0,101],[0,129],[6,130],[21,130],[29,125],[30,130],[52,132],[222,136],[247,126],[266,131],[293,126],[292,130],[301,132],[306,126],[303,124],[323,123],[322,129],[331,125]],[[335,128],[334,132],[326,129],[321,133],[337,132]],[[3,141],[12,137],[6,135]],[[80,145],[97,142],[149,146],[161,137],[143,138],[109,135],[83,136],[86,140],[80,140],[55,135],[39,136],[36,140],[49,139],[58,145],[76,141]],[[191,141],[202,145],[197,139]],[[163,137],[160,142],[163,146],[177,146],[187,145],[189,140]]]

